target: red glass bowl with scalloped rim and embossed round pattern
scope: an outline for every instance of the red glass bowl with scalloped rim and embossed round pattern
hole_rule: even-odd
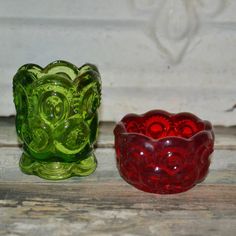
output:
[[[212,125],[191,113],[128,114],[116,125],[114,135],[120,175],[140,190],[180,193],[208,173]]]

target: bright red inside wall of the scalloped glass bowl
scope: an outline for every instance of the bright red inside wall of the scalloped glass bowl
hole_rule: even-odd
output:
[[[204,122],[191,113],[128,115],[122,122],[128,133],[139,133],[152,139],[169,136],[190,138],[205,128]]]

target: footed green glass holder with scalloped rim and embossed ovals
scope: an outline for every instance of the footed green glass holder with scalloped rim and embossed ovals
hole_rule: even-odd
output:
[[[16,130],[23,142],[20,168],[60,180],[87,176],[97,166],[101,79],[96,66],[55,61],[26,64],[13,78]]]

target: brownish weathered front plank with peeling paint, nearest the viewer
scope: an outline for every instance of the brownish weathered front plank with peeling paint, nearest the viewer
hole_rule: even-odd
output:
[[[234,235],[236,186],[142,193],[124,182],[0,184],[2,235]]]

